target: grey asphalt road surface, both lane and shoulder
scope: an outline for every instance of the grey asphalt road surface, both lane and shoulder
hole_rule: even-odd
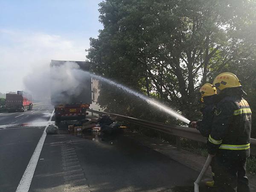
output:
[[[52,106],[0,114],[0,191],[15,192],[49,120]],[[192,192],[198,172],[122,134],[47,135],[29,191]]]

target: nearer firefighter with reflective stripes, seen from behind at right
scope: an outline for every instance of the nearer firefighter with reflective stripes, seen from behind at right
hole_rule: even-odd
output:
[[[213,81],[220,101],[207,141],[215,156],[215,184],[218,192],[250,192],[246,177],[246,159],[250,156],[251,110],[239,79],[233,73],[221,73]]]

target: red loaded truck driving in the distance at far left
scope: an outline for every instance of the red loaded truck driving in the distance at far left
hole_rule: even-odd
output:
[[[32,96],[24,91],[6,93],[6,110],[10,112],[28,111],[33,108]]]

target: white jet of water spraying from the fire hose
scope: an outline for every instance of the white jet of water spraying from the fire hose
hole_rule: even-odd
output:
[[[179,120],[181,120],[181,121],[183,121],[183,122],[185,122],[185,123],[187,123],[187,124],[189,124],[189,122],[190,122],[189,119],[186,119],[184,116],[180,115],[179,113],[177,113],[176,111],[172,110],[171,108],[168,108],[168,107],[166,107],[165,105],[161,104],[160,102],[157,102],[156,100],[151,99],[151,98],[149,98],[149,97],[147,97],[147,96],[145,96],[145,95],[143,95],[143,94],[141,94],[141,93],[137,93],[136,91],[131,90],[130,88],[125,87],[125,86],[122,85],[122,84],[116,83],[116,82],[111,81],[111,80],[109,80],[109,79],[106,79],[106,78],[104,78],[104,77],[102,77],[102,76],[97,76],[97,75],[95,75],[95,74],[91,74],[91,73],[89,73],[89,72],[84,72],[84,73],[88,73],[88,75],[92,76],[92,77],[95,78],[95,79],[98,79],[98,80],[100,80],[100,81],[104,81],[104,82],[106,82],[106,83],[108,83],[108,84],[114,85],[114,86],[116,86],[116,87],[118,87],[118,88],[120,88],[120,89],[122,89],[122,90],[125,90],[126,92],[128,92],[128,93],[130,93],[130,94],[132,94],[132,95],[134,95],[134,96],[137,96],[137,97],[139,97],[140,99],[143,99],[143,100],[146,101],[148,104],[153,105],[154,107],[157,107],[157,108],[159,108],[160,110],[165,111],[166,113],[168,113],[168,114],[174,116],[176,119],[179,119]]]

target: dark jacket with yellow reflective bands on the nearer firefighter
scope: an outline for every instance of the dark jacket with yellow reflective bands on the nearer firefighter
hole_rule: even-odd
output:
[[[242,98],[242,90],[226,88],[221,94],[207,141],[209,154],[221,153],[230,157],[250,155],[251,110]]]

